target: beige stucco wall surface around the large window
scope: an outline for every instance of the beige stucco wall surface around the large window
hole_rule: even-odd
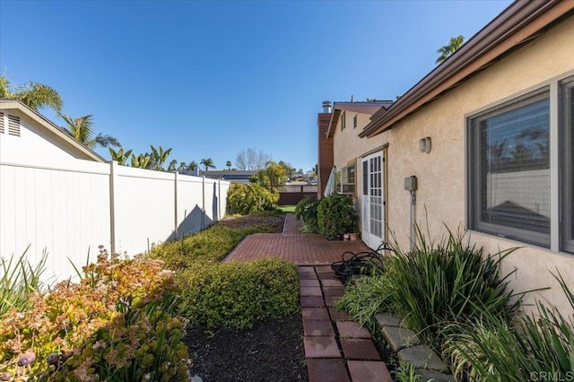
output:
[[[465,117],[518,93],[544,86],[556,76],[574,70],[574,18],[562,22],[495,65],[475,75],[439,99],[419,109],[392,130],[355,143],[344,137],[335,141],[335,164],[344,161],[340,153],[361,156],[384,143],[387,148],[388,227],[399,243],[408,246],[409,195],[405,177],[418,178],[417,221],[432,238],[465,224]],[[570,72],[571,74],[571,72]],[[431,136],[432,151],[419,152],[419,139]],[[366,143],[365,143],[366,142]],[[359,173],[358,173],[359,175]],[[428,218],[428,224],[427,224]],[[515,291],[552,286],[542,295],[559,308],[569,304],[549,271],[559,269],[574,291],[574,255],[553,253],[509,239],[471,232],[471,239],[491,253],[520,246],[504,262],[504,272],[518,269],[512,277]]]

